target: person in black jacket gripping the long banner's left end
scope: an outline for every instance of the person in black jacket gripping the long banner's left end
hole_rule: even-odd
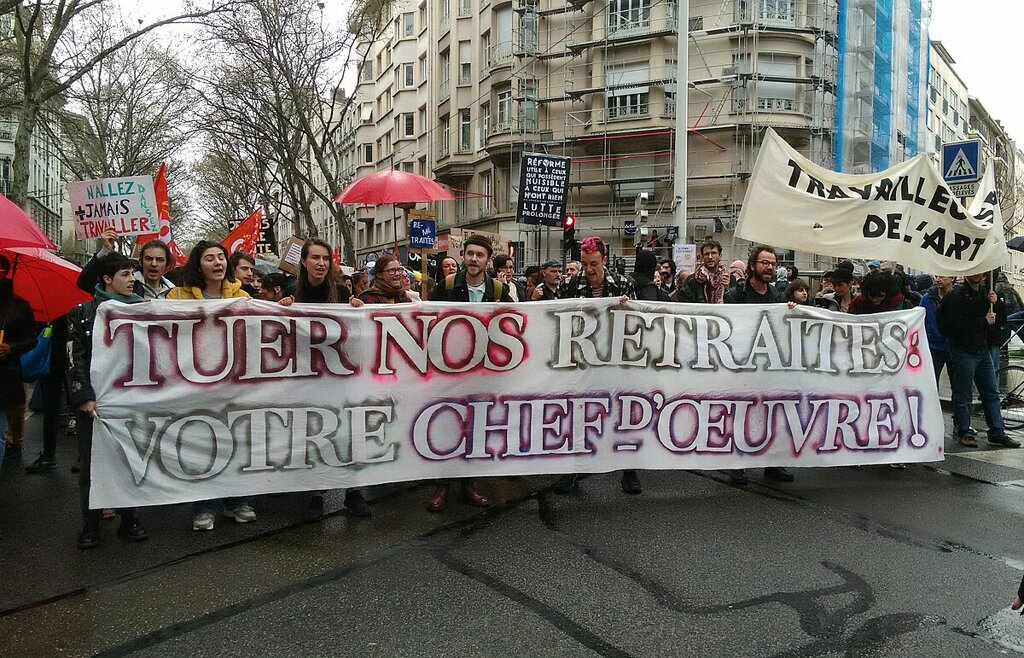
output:
[[[78,451],[82,455],[82,470],[79,473],[79,492],[82,503],[84,526],[78,535],[79,549],[94,549],[99,545],[100,510],[89,509],[89,487],[92,482],[92,420],[98,415],[96,393],[92,389],[92,332],[96,320],[96,309],[100,303],[116,300],[126,304],[142,302],[135,295],[135,279],[132,277],[135,263],[121,254],[108,254],[97,259],[96,273],[100,283],[96,284],[96,295],[90,302],[76,306],[69,314],[72,334],[72,382],[71,401],[75,406]],[[142,528],[135,511],[121,510],[121,527],[118,536],[128,541],[142,541],[150,534]]]

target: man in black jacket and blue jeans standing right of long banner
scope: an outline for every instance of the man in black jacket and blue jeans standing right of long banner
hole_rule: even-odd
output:
[[[995,291],[985,288],[985,273],[972,274],[967,282],[945,296],[938,308],[939,331],[949,339],[949,374],[952,377],[953,427],[961,445],[978,447],[971,427],[971,401],[978,386],[988,425],[988,442],[1008,448],[1020,443],[1007,436],[999,410],[999,386],[995,379],[990,345],[998,342],[999,326],[1006,324],[1007,307]]]

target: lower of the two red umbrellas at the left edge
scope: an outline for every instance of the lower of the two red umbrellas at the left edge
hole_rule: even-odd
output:
[[[37,322],[50,322],[92,296],[78,288],[82,268],[45,249],[0,249],[11,262],[14,294],[32,305]]]

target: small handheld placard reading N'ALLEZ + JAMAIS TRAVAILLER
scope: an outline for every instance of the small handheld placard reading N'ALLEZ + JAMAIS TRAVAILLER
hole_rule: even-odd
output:
[[[79,239],[99,237],[108,228],[119,235],[160,231],[151,176],[72,181],[68,196]]]

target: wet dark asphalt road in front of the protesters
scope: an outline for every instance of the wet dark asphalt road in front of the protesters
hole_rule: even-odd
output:
[[[30,420],[30,437],[38,432]],[[60,468],[0,472],[0,656],[995,656],[1024,652],[1024,449],[949,444],[944,463],[757,474],[613,474],[578,493],[493,480],[497,505],[304,523],[307,496],[190,530],[147,509],[150,541],[79,552]],[[38,446],[30,443],[25,463]]]

